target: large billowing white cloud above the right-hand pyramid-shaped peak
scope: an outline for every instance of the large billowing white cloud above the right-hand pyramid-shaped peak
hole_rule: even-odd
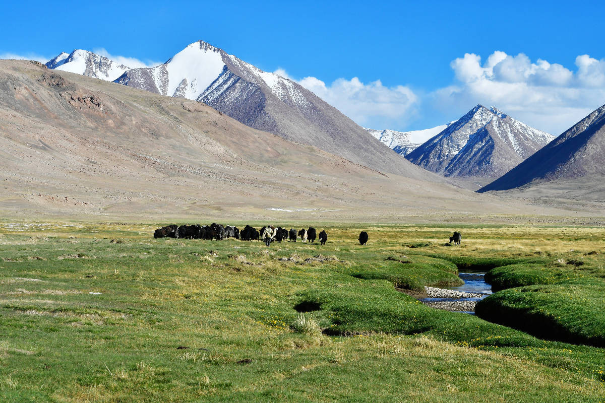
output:
[[[605,103],[605,60],[588,55],[576,71],[546,60],[532,62],[495,51],[485,63],[466,53],[451,62],[457,83],[434,91],[442,109],[463,113],[477,103],[496,106],[538,129],[558,135]]]

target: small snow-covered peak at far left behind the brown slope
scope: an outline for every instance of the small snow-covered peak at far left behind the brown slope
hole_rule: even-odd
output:
[[[120,65],[105,56],[87,50],[76,49],[71,53],[62,52],[46,63],[47,68],[82,74],[95,79],[113,81],[130,68]]]

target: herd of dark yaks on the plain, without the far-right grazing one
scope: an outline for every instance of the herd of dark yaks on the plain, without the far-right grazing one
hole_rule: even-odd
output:
[[[321,230],[319,236],[317,234],[317,230],[313,227],[309,227],[307,229],[302,228],[299,231],[296,231],[294,228],[290,228],[290,230],[286,230],[286,228],[281,227],[269,227],[272,231],[273,236],[271,237],[272,241],[281,242],[283,240],[290,240],[291,242],[296,242],[298,237],[301,238],[302,242],[315,242],[315,239],[319,238],[319,242],[322,245],[325,245],[325,242],[328,240],[328,234],[325,230]],[[153,236],[154,238],[181,238],[181,239],[215,239],[215,240],[223,240],[227,238],[235,238],[241,240],[259,240],[261,234],[265,232],[267,227],[261,228],[258,231],[254,227],[250,227],[250,225],[246,225],[243,230],[239,230],[237,227],[232,225],[224,226],[222,224],[216,224],[213,222],[210,225],[166,225],[166,227],[158,228],[155,230]],[[361,245],[365,245],[368,242],[368,233],[362,231],[359,234],[359,243]]]

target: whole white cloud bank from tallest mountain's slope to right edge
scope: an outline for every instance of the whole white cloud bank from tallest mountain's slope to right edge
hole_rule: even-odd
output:
[[[315,92],[356,123],[377,129],[409,129],[417,117],[430,118],[436,125],[481,103],[558,135],[605,103],[605,59],[587,54],[575,59],[574,71],[542,59],[532,62],[523,53],[512,56],[502,51],[495,51],[483,63],[481,56],[466,53],[450,66],[455,82],[427,92],[404,85],[387,87],[381,80],[363,83],[353,77],[327,84],[316,77],[293,79],[284,69],[275,73]]]

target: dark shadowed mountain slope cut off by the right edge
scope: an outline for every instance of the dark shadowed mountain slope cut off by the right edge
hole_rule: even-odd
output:
[[[478,192],[605,200],[605,105]]]

